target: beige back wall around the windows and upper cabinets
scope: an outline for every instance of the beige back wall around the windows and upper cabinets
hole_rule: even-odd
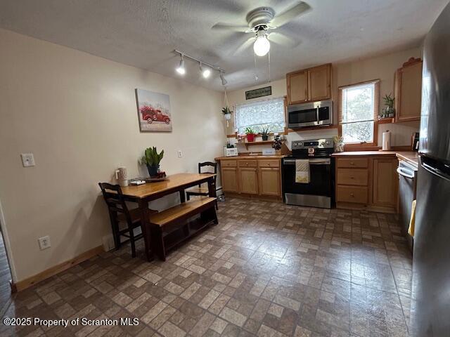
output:
[[[382,97],[389,93],[392,93],[392,95],[394,95],[394,72],[399,67],[401,67],[401,65],[406,62],[406,60],[408,60],[411,56],[420,58],[421,55],[422,51],[420,48],[413,48],[407,51],[381,55],[376,58],[368,58],[366,60],[357,60],[354,62],[342,64],[333,64],[333,102],[335,123],[338,118],[338,86],[354,84],[371,79],[380,79],[380,95]],[[264,84],[261,86],[231,91],[228,93],[229,103],[231,106],[234,106],[236,104],[250,102],[252,100],[245,101],[245,91],[269,85],[272,86],[273,95],[259,98],[259,100],[286,95],[286,81],[285,79],[280,79],[278,81],[272,81],[269,84]],[[256,98],[255,100],[258,100],[258,98]],[[383,107],[383,100],[381,100],[380,109]],[[227,134],[232,134],[234,132],[233,120],[230,121],[229,125],[230,127],[227,129]],[[392,145],[410,145],[411,134],[414,131],[418,131],[418,126],[418,121],[399,124],[381,124],[378,128],[378,145],[381,145],[381,135],[386,130],[392,131]],[[289,133],[288,143],[290,144],[291,140],[333,137],[337,134],[338,131],[333,129],[323,131],[294,132]],[[260,147],[252,147],[252,150],[260,151]],[[245,147],[240,149],[240,151],[245,151]]]

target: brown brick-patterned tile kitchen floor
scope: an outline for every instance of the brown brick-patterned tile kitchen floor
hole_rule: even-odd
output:
[[[219,225],[165,263],[124,246],[1,312],[139,325],[1,325],[0,336],[408,336],[411,254],[395,216],[244,199],[219,208]]]

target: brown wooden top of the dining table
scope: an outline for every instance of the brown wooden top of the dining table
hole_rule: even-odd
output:
[[[176,192],[180,187],[214,176],[216,176],[214,173],[176,173],[172,174],[172,176],[167,176],[167,180],[122,187],[122,193],[126,197],[145,198],[168,190],[174,190]]]

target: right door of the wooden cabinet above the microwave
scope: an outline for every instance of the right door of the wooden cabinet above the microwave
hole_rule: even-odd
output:
[[[308,71],[309,100],[329,100],[331,98],[331,65],[321,65]]]

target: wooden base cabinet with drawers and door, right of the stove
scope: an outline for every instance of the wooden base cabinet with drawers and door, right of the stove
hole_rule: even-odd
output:
[[[336,158],[336,206],[394,213],[397,165],[395,154]]]

